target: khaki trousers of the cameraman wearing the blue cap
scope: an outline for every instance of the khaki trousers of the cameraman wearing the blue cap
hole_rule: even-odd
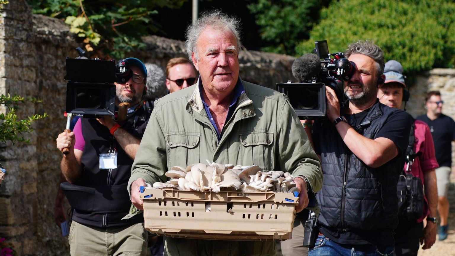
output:
[[[148,232],[144,223],[128,227],[98,228],[72,221],[71,256],[146,256]]]

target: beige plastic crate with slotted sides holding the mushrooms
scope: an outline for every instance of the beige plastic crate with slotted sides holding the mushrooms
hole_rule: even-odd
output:
[[[210,240],[291,239],[298,203],[293,193],[150,188],[141,198],[148,231],[160,236]],[[206,211],[208,205],[210,211]]]

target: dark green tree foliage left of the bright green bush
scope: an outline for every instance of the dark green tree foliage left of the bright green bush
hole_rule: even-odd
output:
[[[330,0],[257,0],[248,5],[255,14],[261,38],[269,46],[263,51],[295,55],[295,44],[308,39],[319,18],[319,9]]]

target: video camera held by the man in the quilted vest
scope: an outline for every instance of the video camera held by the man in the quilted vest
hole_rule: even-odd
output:
[[[296,59],[292,73],[299,83],[277,83],[276,90],[289,97],[289,101],[301,119],[325,116],[325,86],[334,89],[339,102],[347,102],[343,92],[343,81],[355,72],[355,63],[344,58],[343,52],[329,54],[327,41],[316,41],[313,52]],[[330,58],[333,56],[334,58]],[[322,61],[320,59],[323,59]]]

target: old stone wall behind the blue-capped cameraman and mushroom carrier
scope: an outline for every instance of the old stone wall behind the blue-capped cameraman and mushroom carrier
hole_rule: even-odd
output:
[[[10,238],[18,255],[68,255],[67,239],[53,217],[61,160],[55,139],[66,124],[65,58],[76,56],[78,44],[63,21],[32,15],[25,0],[2,5],[0,13],[0,93],[38,97],[42,103],[21,104],[18,113],[49,115],[25,134],[29,144],[0,143],[0,162],[7,169],[0,187],[0,236]],[[186,56],[182,41],[157,36],[144,41],[147,48],[131,56],[163,68],[170,58]],[[274,87],[291,78],[292,61],[290,56],[245,50],[240,75]]]

